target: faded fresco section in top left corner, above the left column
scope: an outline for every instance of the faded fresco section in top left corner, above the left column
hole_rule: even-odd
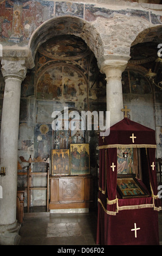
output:
[[[6,0],[0,3],[2,42],[27,42],[43,21],[51,18],[54,2]],[[35,19],[33,19],[35,17]]]

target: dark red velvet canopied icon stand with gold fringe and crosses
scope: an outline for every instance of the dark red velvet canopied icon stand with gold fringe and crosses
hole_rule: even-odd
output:
[[[142,186],[150,192],[150,197],[139,197],[122,199],[116,191],[117,182],[117,148],[141,148],[143,150],[142,155]],[[116,244],[158,244],[158,232],[157,232],[157,211],[160,208],[160,200],[158,199],[157,190],[157,176],[155,172],[155,131],[135,123],[134,121],[124,118],[119,123],[113,125],[110,128],[109,136],[100,136],[99,138],[100,149],[100,164],[99,164],[99,194],[98,194],[98,231],[97,242],[104,245],[116,245]],[[141,181],[140,181],[141,182]],[[139,214],[137,212],[139,211]],[[145,212],[145,220],[142,220],[141,211]],[[152,214],[150,211],[153,211]],[[154,216],[150,217],[152,227],[150,233],[156,237],[154,241],[147,241],[145,233],[145,242],[141,243],[138,239],[133,240],[129,234],[123,234],[123,237],[127,237],[123,242],[121,238],[115,233],[115,229],[119,231],[120,227],[123,230],[127,229],[127,225],[122,227],[122,222],[129,222],[128,216],[136,216],[136,222],[140,220],[141,225],[146,223],[146,215]],[[127,220],[124,219],[127,216]],[[137,217],[138,216],[138,217]],[[115,219],[114,219],[115,218]],[[132,217],[133,218],[133,217]],[[116,221],[115,221],[116,220]],[[133,221],[133,220],[132,220]],[[135,222],[135,221],[134,221]],[[116,227],[115,227],[116,223]],[[113,227],[112,227],[113,224]],[[134,223],[132,223],[134,225]],[[146,228],[146,227],[145,227]],[[143,230],[142,230],[143,231]],[[148,231],[145,229],[145,232]],[[139,232],[140,233],[140,232]],[[114,235],[114,239],[112,238]],[[129,239],[131,239],[129,241]]]

